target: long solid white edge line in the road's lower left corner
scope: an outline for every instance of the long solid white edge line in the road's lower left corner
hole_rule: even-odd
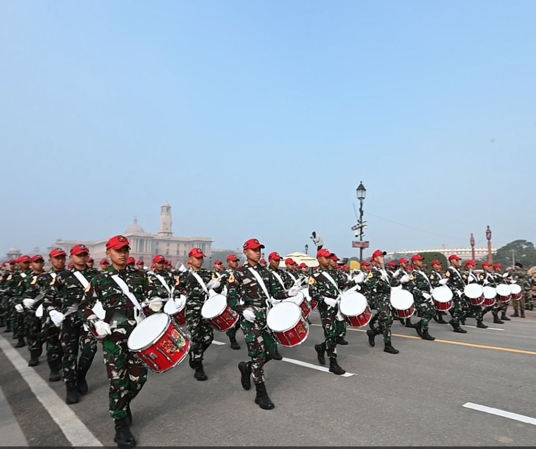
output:
[[[90,429],[81,422],[72,409],[66,405],[65,401],[50,388],[46,381],[28,366],[28,362],[14,349],[10,343],[0,335],[0,349],[9,358],[13,366],[20,373],[26,384],[32,390],[41,405],[48,411],[50,417],[61,429],[65,438],[73,447],[77,446],[98,446],[102,443],[93,435]]]

